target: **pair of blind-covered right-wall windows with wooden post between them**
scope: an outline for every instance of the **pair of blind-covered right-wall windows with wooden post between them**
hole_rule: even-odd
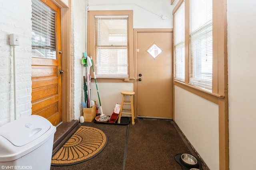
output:
[[[173,14],[174,79],[212,92],[212,0],[180,0]]]

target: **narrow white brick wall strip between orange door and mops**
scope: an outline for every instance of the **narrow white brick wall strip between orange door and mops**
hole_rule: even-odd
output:
[[[83,101],[81,59],[86,52],[86,0],[71,1],[71,69],[72,69],[72,119],[79,119],[82,115],[81,101]],[[84,69],[85,70],[85,69]]]

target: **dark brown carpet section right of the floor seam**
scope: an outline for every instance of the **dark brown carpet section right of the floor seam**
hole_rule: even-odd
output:
[[[175,155],[190,153],[171,121],[136,119],[129,128],[126,170],[181,170]]]

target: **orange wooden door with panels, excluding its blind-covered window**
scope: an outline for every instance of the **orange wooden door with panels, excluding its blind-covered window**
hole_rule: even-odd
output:
[[[59,73],[61,70],[60,8],[51,1],[46,1],[46,4],[55,11],[56,39],[53,41],[56,42],[56,56],[53,59],[41,58],[34,57],[32,53],[32,115],[45,117],[55,126],[62,121],[62,81]]]

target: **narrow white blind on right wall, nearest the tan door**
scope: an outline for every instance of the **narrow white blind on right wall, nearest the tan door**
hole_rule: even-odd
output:
[[[185,81],[185,8],[184,2],[174,13],[174,79]]]

